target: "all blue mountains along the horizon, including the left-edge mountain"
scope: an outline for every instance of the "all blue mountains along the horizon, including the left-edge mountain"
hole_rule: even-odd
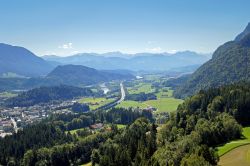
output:
[[[68,57],[38,57],[28,49],[0,43],[0,77],[46,76],[58,65],[83,65],[98,70],[193,72],[210,59],[191,51],[168,53],[81,53]]]

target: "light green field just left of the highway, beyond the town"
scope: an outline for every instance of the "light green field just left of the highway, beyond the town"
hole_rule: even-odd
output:
[[[82,98],[80,100],[78,100],[79,103],[85,103],[87,105],[89,105],[90,110],[94,110],[97,109],[101,106],[104,106],[108,103],[113,102],[115,99],[106,99],[106,98]]]

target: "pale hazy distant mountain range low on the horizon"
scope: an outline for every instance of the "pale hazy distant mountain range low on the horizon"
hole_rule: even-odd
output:
[[[198,54],[191,51],[168,53],[123,54],[110,52],[105,54],[81,53],[67,57],[43,56],[51,64],[84,65],[100,70],[167,71],[185,70],[186,66],[200,66],[211,58],[210,54]]]

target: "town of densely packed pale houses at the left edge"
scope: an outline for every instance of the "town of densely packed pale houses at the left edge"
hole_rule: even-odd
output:
[[[0,108],[0,137],[11,135],[27,124],[39,122],[51,113],[68,113],[74,101],[63,101],[30,107]]]

